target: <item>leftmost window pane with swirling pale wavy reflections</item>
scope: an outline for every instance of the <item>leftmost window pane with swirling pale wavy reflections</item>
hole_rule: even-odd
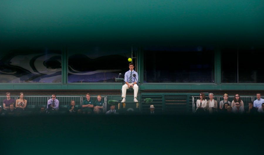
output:
[[[61,50],[1,49],[1,83],[61,82]]]

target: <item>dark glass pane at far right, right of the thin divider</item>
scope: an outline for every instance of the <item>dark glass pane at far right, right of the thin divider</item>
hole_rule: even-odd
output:
[[[238,82],[264,83],[263,58],[263,49],[239,49]]]

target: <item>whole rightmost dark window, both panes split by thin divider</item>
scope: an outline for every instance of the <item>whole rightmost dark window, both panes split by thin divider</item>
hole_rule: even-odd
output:
[[[222,50],[222,82],[264,83],[261,49]]]

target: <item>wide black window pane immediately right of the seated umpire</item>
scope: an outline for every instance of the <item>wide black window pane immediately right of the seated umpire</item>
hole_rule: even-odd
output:
[[[148,47],[144,82],[214,82],[214,62],[210,47]]]

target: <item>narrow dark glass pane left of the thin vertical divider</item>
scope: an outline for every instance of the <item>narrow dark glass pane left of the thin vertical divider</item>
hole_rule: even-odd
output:
[[[237,49],[221,50],[221,82],[237,83]]]

